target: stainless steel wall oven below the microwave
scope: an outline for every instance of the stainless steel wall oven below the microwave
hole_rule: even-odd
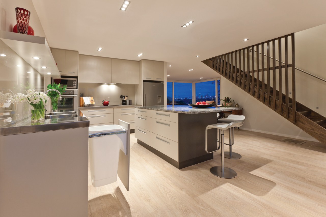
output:
[[[58,110],[61,112],[78,111],[78,90],[66,89],[62,100],[58,101]]]

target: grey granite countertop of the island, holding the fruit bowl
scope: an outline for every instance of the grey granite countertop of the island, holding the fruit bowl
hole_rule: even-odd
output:
[[[165,112],[176,112],[184,114],[201,114],[210,112],[224,112],[232,110],[241,110],[243,108],[235,107],[209,107],[209,108],[194,108],[190,105],[154,105],[154,106],[136,106],[135,108],[150,109]]]

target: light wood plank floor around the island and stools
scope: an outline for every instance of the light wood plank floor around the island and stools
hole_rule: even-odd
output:
[[[225,165],[238,176],[222,179],[209,171],[220,166],[220,151],[178,170],[130,137],[130,191],[120,180],[94,188],[89,178],[89,217],[326,216],[323,144],[235,130],[233,151],[242,158],[225,159]]]

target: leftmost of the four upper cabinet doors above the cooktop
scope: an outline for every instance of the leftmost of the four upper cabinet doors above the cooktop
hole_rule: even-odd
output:
[[[79,55],[79,83],[97,83],[97,58]]]

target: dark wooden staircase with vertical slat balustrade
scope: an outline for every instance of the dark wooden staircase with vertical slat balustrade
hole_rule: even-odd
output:
[[[276,50],[279,60],[276,59]],[[285,54],[285,62],[281,61],[282,53]],[[294,33],[202,62],[319,142],[326,144],[326,117],[295,101]],[[290,91],[292,98],[289,97]]]

